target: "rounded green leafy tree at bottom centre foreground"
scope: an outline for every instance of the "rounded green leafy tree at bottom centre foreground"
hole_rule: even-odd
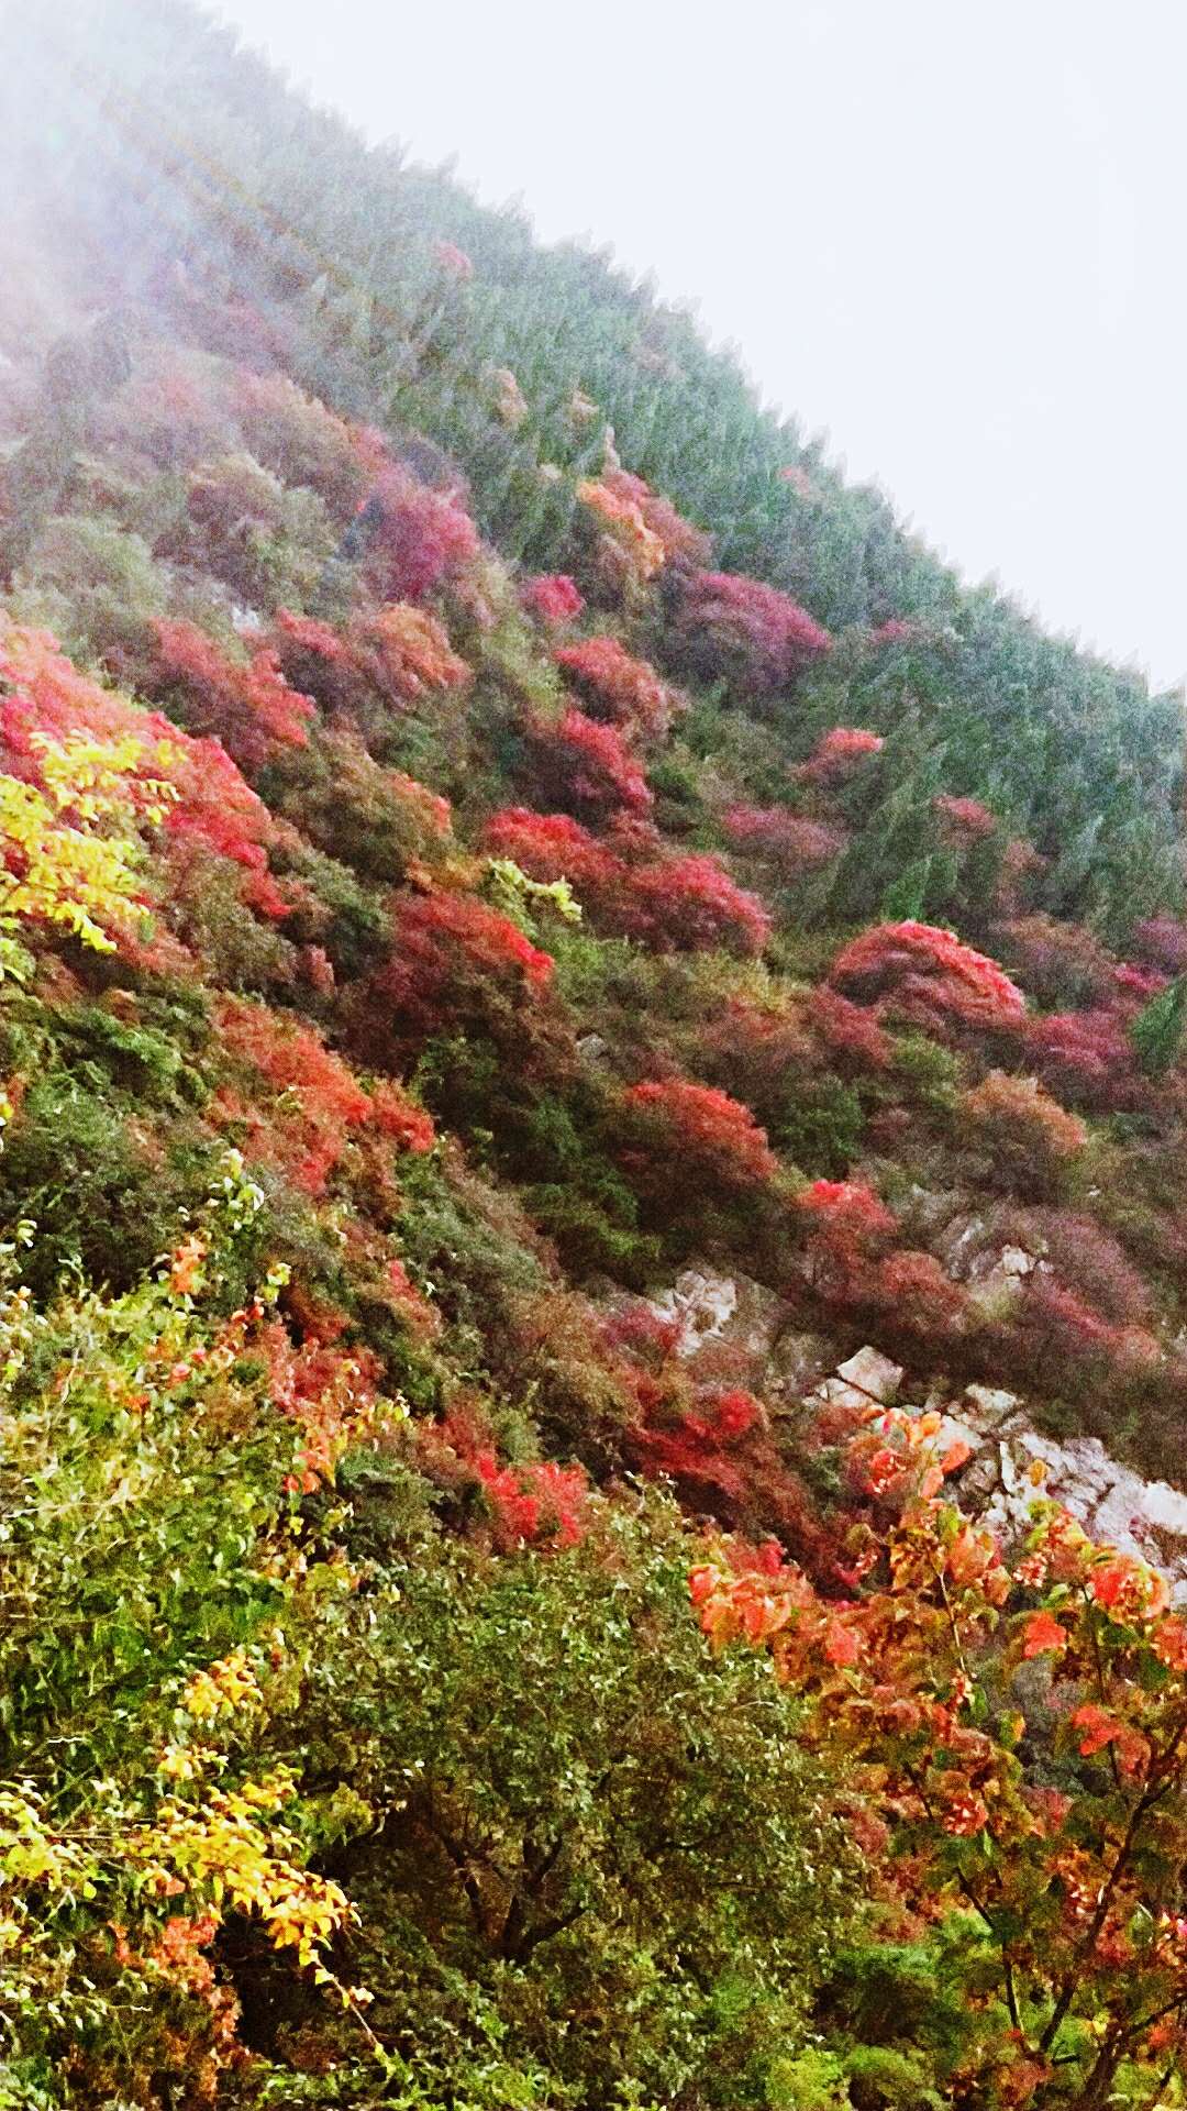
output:
[[[496,2005],[503,2060],[551,2100],[767,2103],[853,1879],[781,1697],[686,1619],[676,1516],[610,1509],[547,1562],[401,1552],[308,1725],[391,1807],[336,1864],[374,2027],[412,2033],[444,2094]]]

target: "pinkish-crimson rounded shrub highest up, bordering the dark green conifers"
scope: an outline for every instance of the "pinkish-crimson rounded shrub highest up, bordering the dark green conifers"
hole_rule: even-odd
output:
[[[674,644],[703,680],[739,688],[788,688],[830,650],[832,638],[807,608],[758,578],[695,572],[674,619]]]

